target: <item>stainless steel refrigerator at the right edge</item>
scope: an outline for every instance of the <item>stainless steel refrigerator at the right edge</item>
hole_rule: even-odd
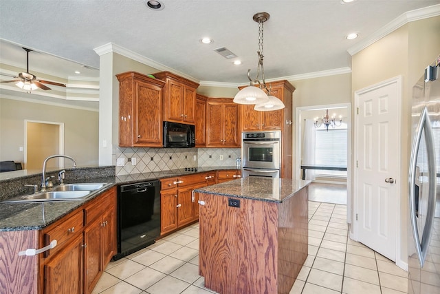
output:
[[[440,56],[412,88],[408,293],[440,294]]]

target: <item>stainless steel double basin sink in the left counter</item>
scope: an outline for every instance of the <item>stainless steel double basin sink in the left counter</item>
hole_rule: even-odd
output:
[[[56,200],[84,200],[104,187],[107,183],[79,183],[55,186],[50,191],[37,192],[31,195],[19,196],[3,202],[36,202]]]

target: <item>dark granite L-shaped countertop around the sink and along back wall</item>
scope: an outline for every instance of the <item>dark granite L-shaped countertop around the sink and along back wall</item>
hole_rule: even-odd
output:
[[[1,202],[0,201],[0,231],[25,231],[25,230],[40,230],[48,225],[52,224],[56,220],[63,218],[67,213],[70,213],[81,207],[86,202],[94,199],[100,193],[114,187],[115,185],[127,185],[135,182],[143,182],[148,180],[159,180],[161,178],[171,178],[174,176],[184,176],[189,174],[198,174],[208,171],[217,171],[224,169],[235,169],[235,167],[197,167],[197,171],[185,170],[185,169],[173,169],[166,171],[158,171],[144,174],[130,174],[125,176],[113,176],[111,172],[104,168],[87,168],[81,170],[80,168],[66,169],[67,172],[76,172],[76,175],[67,175],[65,179],[65,184],[72,184],[78,182],[105,182],[108,183],[104,189],[98,190],[93,196],[88,197],[84,200],[71,200],[71,201],[46,201],[46,202]],[[80,176],[78,176],[80,174]],[[85,176],[87,175],[87,176]],[[100,176],[102,175],[102,176]],[[23,183],[32,183],[35,179],[39,182],[41,177],[36,175],[35,177],[26,178],[25,175],[17,179],[5,179],[0,180],[0,192],[3,193],[3,198],[1,200],[6,200],[15,196],[23,195],[23,190],[21,193],[14,193],[15,186],[17,189],[23,189]],[[27,191],[29,194],[30,191]]]

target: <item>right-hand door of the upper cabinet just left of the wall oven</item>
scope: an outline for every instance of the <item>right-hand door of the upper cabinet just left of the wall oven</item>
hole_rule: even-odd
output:
[[[240,147],[239,105],[225,103],[223,105],[223,146]]]

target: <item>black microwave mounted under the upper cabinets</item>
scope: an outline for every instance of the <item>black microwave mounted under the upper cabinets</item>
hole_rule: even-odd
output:
[[[164,121],[164,148],[195,147],[195,127]]]

